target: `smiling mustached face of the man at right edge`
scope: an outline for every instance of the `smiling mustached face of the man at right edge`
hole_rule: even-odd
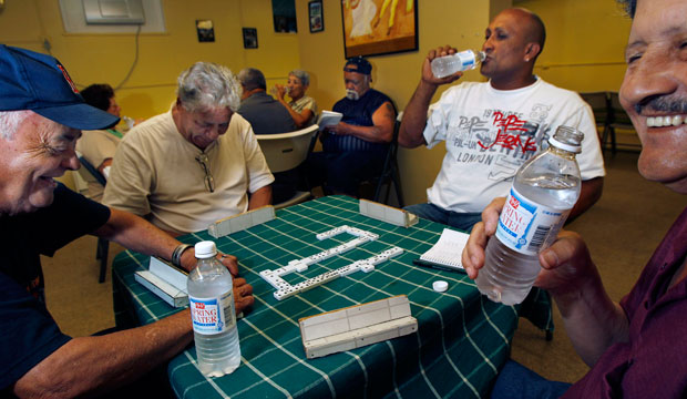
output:
[[[687,194],[687,2],[639,0],[621,103],[639,134],[639,173]]]

